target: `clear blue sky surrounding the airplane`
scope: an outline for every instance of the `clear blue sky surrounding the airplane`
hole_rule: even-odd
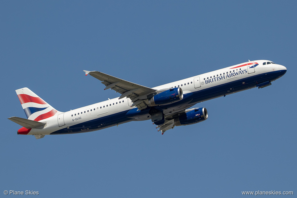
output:
[[[40,197],[240,197],[296,189],[295,1],[1,1],[1,176]],[[151,121],[72,135],[17,135],[28,87],[59,111],[108,98],[85,70],[154,87],[268,59],[271,86],[200,104],[206,121]],[[9,195],[7,195],[9,196]],[[293,196],[292,196],[293,197]]]

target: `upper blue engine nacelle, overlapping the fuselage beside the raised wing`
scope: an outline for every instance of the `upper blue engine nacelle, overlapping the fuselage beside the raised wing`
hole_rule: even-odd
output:
[[[163,91],[149,100],[151,107],[156,105],[170,104],[173,102],[180,101],[184,98],[183,91],[180,87],[171,88],[166,91]]]

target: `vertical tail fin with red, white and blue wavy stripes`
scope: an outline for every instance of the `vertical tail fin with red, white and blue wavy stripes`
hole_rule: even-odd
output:
[[[15,90],[26,113],[28,120],[40,121],[52,117],[58,112],[47,102],[42,100],[29,88]],[[59,113],[59,112],[58,112]]]

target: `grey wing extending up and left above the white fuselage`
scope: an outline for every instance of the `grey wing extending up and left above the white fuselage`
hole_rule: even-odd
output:
[[[124,97],[130,98],[133,102],[132,107],[136,106],[139,110],[145,109],[147,107],[148,99],[152,97],[152,94],[157,91],[155,89],[131,83],[129,81],[122,80],[102,72],[83,71],[86,72],[86,75],[89,74],[98,80],[101,80],[101,83],[106,86],[104,90],[113,89],[114,91],[122,94],[119,99]]]

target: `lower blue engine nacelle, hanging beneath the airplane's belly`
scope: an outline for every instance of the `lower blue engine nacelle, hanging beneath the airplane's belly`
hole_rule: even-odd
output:
[[[198,122],[205,121],[208,118],[206,108],[198,108],[187,113],[184,113],[177,118],[174,118],[176,126],[196,124]]]

